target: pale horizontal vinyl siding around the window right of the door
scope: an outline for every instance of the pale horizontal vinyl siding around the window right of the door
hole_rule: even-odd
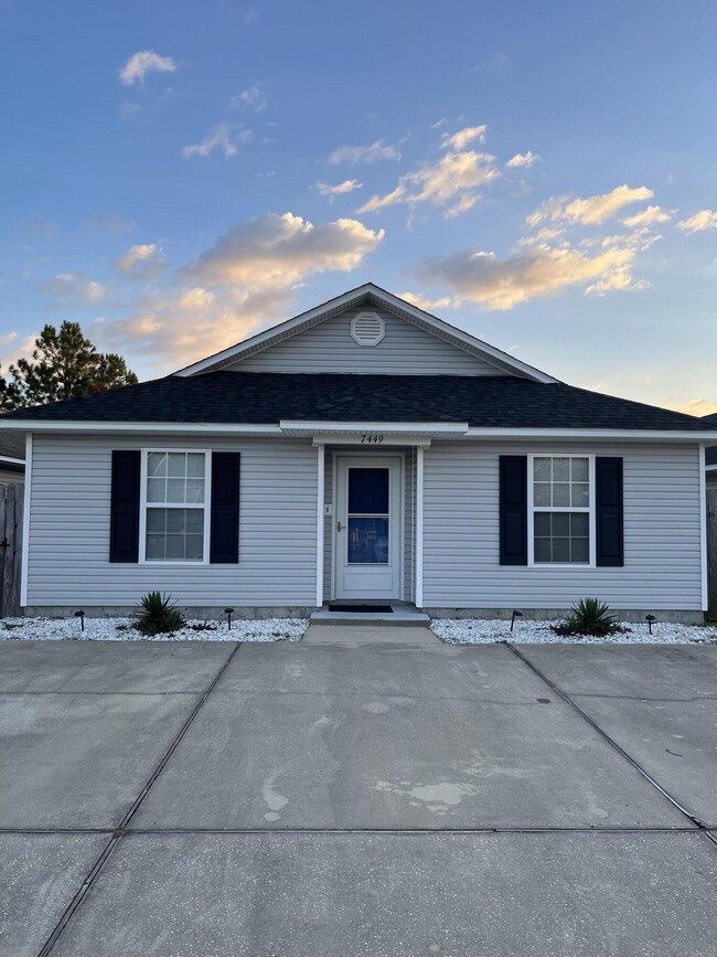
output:
[[[624,566],[499,564],[499,456],[623,458]],[[425,456],[424,606],[698,610],[699,455],[695,445],[434,443]]]

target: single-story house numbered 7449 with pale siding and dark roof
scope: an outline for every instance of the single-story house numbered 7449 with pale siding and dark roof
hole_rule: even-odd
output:
[[[557,381],[366,284],[28,433],[28,614],[327,602],[702,620],[717,426]],[[200,612],[202,609],[202,612]]]

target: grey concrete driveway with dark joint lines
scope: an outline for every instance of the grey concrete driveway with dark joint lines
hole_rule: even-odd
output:
[[[8,641],[0,748],[2,957],[715,953],[717,647]]]

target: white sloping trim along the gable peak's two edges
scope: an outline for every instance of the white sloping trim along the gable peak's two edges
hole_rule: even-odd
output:
[[[336,296],[333,299],[329,299],[327,302],[322,302],[321,306],[315,306],[307,312],[301,312],[292,319],[287,319],[285,322],[280,322],[278,326],[265,329],[264,332],[258,332],[256,336],[252,336],[249,339],[237,342],[235,345],[231,345],[222,352],[216,352],[214,355],[208,355],[206,359],[201,359],[199,362],[192,363],[192,365],[186,365],[184,369],[178,370],[174,375],[190,376],[197,375],[202,372],[215,372],[216,370],[223,369],[224,366],[237,361],[242,357],[246,358],[256,352],[261,352],[277,342],[282,342],[285,339],[290,339],[299,332],[311,329],[314,326],[324,322],[327,319],[338,316],[345,309],[351,308],[353,302],[361,301],[365,298],[375,299],[376,305],[384,306],[386,309],[395,312],[407,322],[418,326],[418,328],[437,336],[439,339],[451,343],[456,348],[469,352],[477,358],[483,359],[491,365],[505,372],[507,375],[518,373],[525,379],[531,379],[534,382],[542,382],[544,384],[558,382],[557,379],[548,375],[546,372],[542,372],[539,369],[535,369],[526,362],[521,362],[520,359],[515,359],[507,352],[503,352],[501,349],[496,349],[494,345],[490,345],[488,342],[477,339],[474,336],[464,332],[462,329],[458,329],[456,326],[445,322],[437,316],[432,316],[430,312],[426,312],[424,309],[413,306],[410,302],[406,301],[406,299],[400,299],[398,296],[394,296],[393,293],[382,289],[374,283],[365,283],[363,286],[350,289],[341,296]]]

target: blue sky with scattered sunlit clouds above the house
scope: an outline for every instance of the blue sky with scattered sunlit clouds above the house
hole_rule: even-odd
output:
[[[3,369],[140,378],[372,280],[717,410],[717,4],[0,0]]]

